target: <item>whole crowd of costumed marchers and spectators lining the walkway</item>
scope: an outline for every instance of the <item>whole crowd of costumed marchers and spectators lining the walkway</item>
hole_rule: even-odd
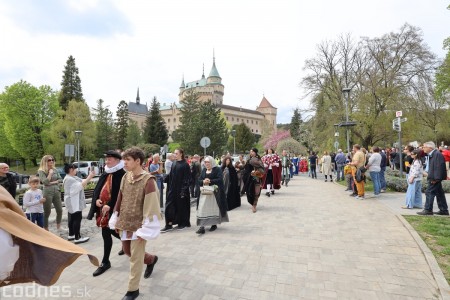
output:
[[[146,158],[137,147],[124,152],[107,151],[104,173],[98,179],[87,215],[88,220],[95,218],[103,239],[103,258],[93,276],[111,268],[113,237],[119,239],[122,249],[118,254],[130,258],[128,291],[123,299],[135,299],[139,295],[143,266],[146,265],[144,278],[148,278],[158,261],[158,256],[145,252],[146,240],[152,240],[160,233],[191,227],[192,199],[197,207],[196,234],[203,235],[207,226],[208,231],[213,232],[220,224],[229,222],[229,212],[241,206],[242,196],[246,196],[251,211],[256,213],[263,190],[267,197],[273,197],[281,186],[288,186],[293,174],[298,173],[308,173],[309,177],[317,179],[319,170],[325,182],[333,182],[335,175],[335,181],[346,180],[350,196],[363,200],[366,197],[365,176],[368,174],[373,182],[371,197],[379,197],[387,188],[386,168],[399,169],[402,161],[408,183],[404,208],[422,209],[418,212],[420,215],[449,214],[442,180],[448,178],[450,153],[446,149],[437,149],[433,142],[416,148],[408,145],[402,154],[377,146],[367,151],[358,144],[353,145],[347,155],[341,149],[337,153],[324,151],[320,157],[315,152],[309,156],[290,157],[286,150],[278,155],[271,148],[263,156],[258,152],[253,148],[247,159],[240,155],[234,162],[230,155],[220,159],[199,155],[187,157],[183,149],[178,148],[163,162],[159,154],[150,154]],[[403,156],[397,164],[396,157],[400,158],[400,155]],[[15,196],[15,181],[7,175],[8,169],[6,164],[0,164],[0,184]],[[73,164],[65,165],[64,170],[67,175],[62,181],[54,157],[45,155],[42,158],[38,176],[30,178],[30,189],[24,195],[25,213],[31,222],[48,230],[53,205],[59,230],[62,183],[68,211],[68,240],[75,244],[84,243],[89,237],[80,233],[82,211],[87,207],[83,189],[95,174],[92,171],[86,179],[80,179]],[[422,205],[424,176],[428,185],[425,205]],[[43,190],[39,189],[40,185]],[[435,197],[438,212],[433,212]],[[165,223],[161,228],[159,222],[163,213]]]

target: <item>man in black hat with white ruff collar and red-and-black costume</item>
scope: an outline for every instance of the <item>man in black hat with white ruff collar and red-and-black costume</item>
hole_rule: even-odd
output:
[[[104,155],[105,173],[100,176],[97,185],[95,186],[91,209],[87,216],[88,220],[92,220],[94,215],[96,215],[96,217],[107,215],[107,218],[109,219],[113,213],[114,206],[116,205],[120,182],[125,174],[125,170],[123,169],[124,163],[119,152],[109,150]],[[112,236],[115,236],[120,240],[120,237],[115,230],[111,230],[107,226],[102,227],[103,259],[100,267],[92,274],[93,276],[101,275],[111,268],[109,256],[112,249]],[[119,252],[119,255],[123,255],[122,250]]]

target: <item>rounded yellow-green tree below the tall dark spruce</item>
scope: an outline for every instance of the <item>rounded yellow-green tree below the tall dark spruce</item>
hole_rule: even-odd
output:
[[[46,153],[53,154],[59,161],[66,161],[64,144],[74,144],[76,148],[75,130],[81,130],[80,157],[82,160],[92,158],[97,146],[97,129],[91,119],[89,106],[84,102],[69,101],[67,110],[59,110],[56,120],[46,131],[48,148]],[[88,155],[88,156],[87,156]]]

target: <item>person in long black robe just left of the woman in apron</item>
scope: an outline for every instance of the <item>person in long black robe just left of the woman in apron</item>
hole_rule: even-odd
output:
[[[173,225],[178,224],[175,229],[182,230],[191,227],[191,199],[189,195],[189,183],[191,169],[184,158],[183,149],[174,152],[176,161],[173,163],[167,181],[167,199],[164,215],[166,226],[161,233],[173,230]]]

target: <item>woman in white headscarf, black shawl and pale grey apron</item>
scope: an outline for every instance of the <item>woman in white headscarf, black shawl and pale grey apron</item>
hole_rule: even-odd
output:
[[[223,186],[222,170],[216,166],[214,158],[206,156],[205,169],[198,179],[200,198],[197,208],[197,234],[205,233],[205,226],[211,226],[209,231],[217,229],[222,222],[229,222],[227,214],[227,199]],[[203,191],[202,187],[211,187],[213,192]]]

